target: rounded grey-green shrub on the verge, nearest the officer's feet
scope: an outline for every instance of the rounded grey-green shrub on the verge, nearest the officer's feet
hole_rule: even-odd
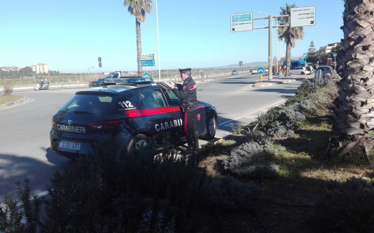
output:
[[[240,177],[273,177],[278,167],[270,161],[272,156],[270,147],[263,148],[258,143],[250,141],[233,149],[222,164],[224,169]]]

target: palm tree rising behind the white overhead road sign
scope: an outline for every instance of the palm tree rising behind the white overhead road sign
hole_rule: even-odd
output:
[[[291,15],[291,8],[295,8],[296,5],[289,5],[286,3],[286,7],[281,7],[280,15]],[[289,24],[289,17],[279,17],[279,25]],[[286,61],[287,61],[287,71],[286,76],[289,76],[289,68],[291,65],[291,48],[295,47],[295,42],[297,39],[304,38],[303,27],[279,27],[277,30],[278,38],[286,42]]]

